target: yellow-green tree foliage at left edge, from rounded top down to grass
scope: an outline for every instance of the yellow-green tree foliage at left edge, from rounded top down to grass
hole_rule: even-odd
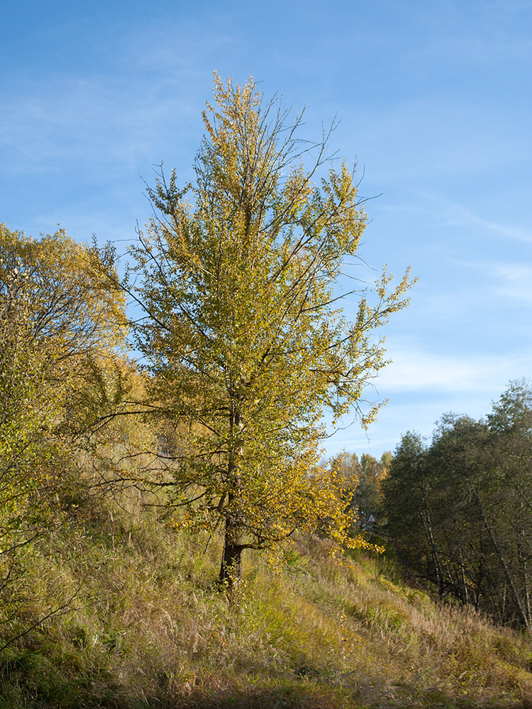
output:
[[[58,521],[49,503],[86,430],[89,371],[112,357],[126,320],[96,248],[62,230],[35,240],[2,224],[0,252],[0,564],[9,566]]]

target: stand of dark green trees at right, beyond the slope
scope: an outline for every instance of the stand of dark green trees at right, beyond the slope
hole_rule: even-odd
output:
[[[532,615],[532,393],[511,382],[487,420],[445,415],[429,447],[406,434],[384,483],[401,562],[492,614],[528,628]]]

